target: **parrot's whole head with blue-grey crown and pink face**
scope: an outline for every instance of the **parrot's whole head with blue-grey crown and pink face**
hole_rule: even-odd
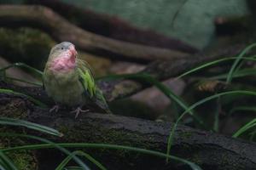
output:
[[[61,42],[51,48],[48,63],[54,70],[67,70],[76,63],[77,51],[71,42]]]

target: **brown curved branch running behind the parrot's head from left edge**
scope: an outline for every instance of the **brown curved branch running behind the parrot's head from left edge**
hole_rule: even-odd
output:
[[[84,31],[44,6],[1,5],[0,26],[37,27],[47,31],[57,42],[73,42],[78,48],[90,53],[119,57],[119,59],[151,61],[154,59],[173,59],[186,55],[177,50],[122,42]]]

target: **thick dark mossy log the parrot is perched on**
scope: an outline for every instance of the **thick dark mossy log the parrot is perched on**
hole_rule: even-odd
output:
[[[12,88],[17,87],[13,86]],[[44,96],[40,90],[27,89],[37,93],[39,99]],[[0,94],[0,111],[1,116],[22,117],[26,121],[54,127],[64,133],[62,138],[43,136],[55,142],[122,144],[148,150],[159,150],[164,153],[172,127],[172,123],[169,122],[152,122],[97,113],[81,114],[78,119],[74,119],[69,111],[50,114],[48,110],[38,108],[22,97],[7,94]],[[19,128],[14,130],[20,133]],[[25,133],[32,132],[27,132],[25,129]],[[108,169],[185,168],[180,164],[173,164],[173,161],[166,164],[165,159],[124,150],[97,149],[86,150],[86,152],[96,156]],[[253,169],[256,167],[256,144],[182,125],[177,127],[171,153],[173,156],[194,161],[203,169]],[[40,150],[39,155],[39,162],[44,161],[45,163],[44,159],[58,160],[57,154],[52,156],[51,152],[44,152],[44,150]]]

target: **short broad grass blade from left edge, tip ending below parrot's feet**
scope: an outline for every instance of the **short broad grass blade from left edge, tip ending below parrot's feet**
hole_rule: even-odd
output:
[[[9,118],[9,117],[0,117],[0,124],[2,125],[11,125],[11,126],[21,126],[21,127],[27,127],[42,133],[48,133],[48,134],[52,134],[55,136],[63,136],[62,133],[60,133],[59,131],[51,128],[51,127],[46,127],[43,125],[39,125],[37,123],[33,123],[33,122],[26,122],[23,120],[19,120],[19,119],[14,119],[14,118]]]

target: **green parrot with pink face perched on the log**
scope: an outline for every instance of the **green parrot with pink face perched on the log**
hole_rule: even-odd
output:
[[[78,52],[71,42],[61,42],[51,48],[44,67],[43,87],[46,94],[54,99],[55,105],[49,112],[59,111],[60,105],[76,108],[75,118],[84,105],[95,104],[108,114],[106,99],[96,86],[90,65],[78,58]]]

